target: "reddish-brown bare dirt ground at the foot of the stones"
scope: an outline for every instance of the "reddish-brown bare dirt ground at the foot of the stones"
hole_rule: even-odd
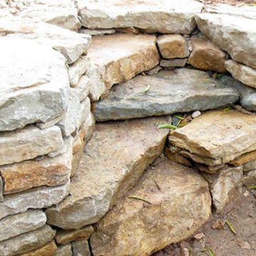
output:
[[[236,235],[223,220],[230,221]],[[206,248],[210,248],[214,254],[210,255]],[[213,214],[193,238],[170,245],[154,254],[154,256],[188,255],[256,256],[256,191],[250,193],[245,190],[240,198],[223,210],[223,213]]]

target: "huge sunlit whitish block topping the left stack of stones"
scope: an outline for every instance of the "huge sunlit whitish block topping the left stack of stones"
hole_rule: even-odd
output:
[[[0,55],[1,132],[48,122],[65,112],[69,79],[60,53],[32,41],[1,37]]]

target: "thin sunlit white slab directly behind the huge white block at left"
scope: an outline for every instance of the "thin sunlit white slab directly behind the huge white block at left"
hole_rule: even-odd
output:
[[[16,16],[1,18],[0,33],[8,38],[27,38],[48,45],[64,55],[68,64],[86,53],[91,37],[59,28],[32,18]]]

